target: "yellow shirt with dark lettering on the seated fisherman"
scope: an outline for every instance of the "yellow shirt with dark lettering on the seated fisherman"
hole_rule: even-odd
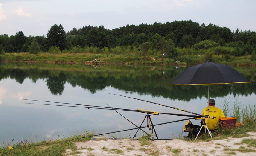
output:
[[[202,115],[208,115],[208,107],[203,109]],[[218,108],[218,107],[214,107],[214,106],[209,106],[209,116],[214,116],[216,118],[214,119],[206,119],[205,123],[208,127],[209,130],[214,130],[217,129],[219,126],[219,119],[221,117],[225,117],[223,111]],[[204,125],[205,127],[205,125]]]

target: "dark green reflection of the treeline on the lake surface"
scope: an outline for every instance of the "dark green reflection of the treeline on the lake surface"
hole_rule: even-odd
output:
[[[26,65],[23,65],[26,66]],[[0,80],[6,77],[23,83],[29,78],[32,82],[38,79],[47,79],[46,85],[53,95],[61,95],[66,82],[73,87],[81,87],[92,94],[98,90],[111,86],[119,90],[136,92],[140,95],[163,96],[165,98],[190,101],[193,98],[207,97],[208,85],[177,85],[169,86],[187,67],[152,67],[152,66],[71,66],[52,65],[42,67],[33,65],[26,67],[0,66]],[[236,68],[238,70],[238,68]],[[164,71],[164,72],[163,72]],[[212,98],[225,97],[228,94],[251,95],[255,94],[255,69],[239,68],[251,83],[209,85],[209,95]]]

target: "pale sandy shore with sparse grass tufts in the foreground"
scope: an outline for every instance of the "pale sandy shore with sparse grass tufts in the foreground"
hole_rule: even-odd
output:
[[[74,156],[146,156],[146,155],[184,155],[184,156],[255,156],[256,147],[242,143],[243,139],[256,139],[255,132],[249,132],[249,137],[233,138],[224,140],[213,140],[209,142],[200,141],[190,143],[180,139],[173,140],[154,140],[150,145],[141,145],[139,140],[130,139],[105,139],[96,138],[87,142],[77,142],[78,150]],[[246,148],[254,152],[240,152],[239,149]],[[66,150],[70,155],[71,150]]]

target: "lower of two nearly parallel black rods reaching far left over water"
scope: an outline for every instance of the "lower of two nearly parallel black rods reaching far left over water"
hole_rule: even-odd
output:
[[[25,103],[25,104],[38,104],[38,103]],[[142,112],[142,113],[147,113],[147,114],[154,114],[154,115],[158,115],[158,114],[167,114],[167,115],[175,115],[175,116],[187,116],[187,117],[195,117],[195,118],[200,118],[200,117],[207,117],[209,115],[206,116],[197,116],[197,115],[188,115],[188,114],[175,114],[175,113],[161,113],[161,112],[153,112],[150,110],[130,110],[130,109],[123,109],[123,108],[111,108],[111,107],[104,107],[104,108],[99,108],[98,107],[83,107],[83,106],[69,106],[69,105],[55,105],[55,104],[38,104],[38,105],[49,105],[49,106],[64,106],[64,107],[79,107],[79,108],[94,108],[94,109],[103,109],[103,110],[122,110],[122,111],[131,111],[131,112]]]

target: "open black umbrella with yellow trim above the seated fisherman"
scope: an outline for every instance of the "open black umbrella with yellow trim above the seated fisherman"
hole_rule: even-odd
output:
[[[235,69],[214,62],[206,62],[187,68],[170,85],[209,85],[250,83]]]

